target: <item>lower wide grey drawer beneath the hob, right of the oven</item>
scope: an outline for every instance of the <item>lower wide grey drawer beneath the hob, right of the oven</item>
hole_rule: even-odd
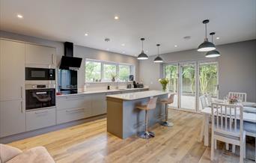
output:
[[[89,108],[67,108],[57,110],[57,123],[67,123],[73,120],[80,120],[91,116],[91,109]]]

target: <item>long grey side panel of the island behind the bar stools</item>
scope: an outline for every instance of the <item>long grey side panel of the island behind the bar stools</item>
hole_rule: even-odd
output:
[[[167,99],[168,95],[157,96],[156,108],[148,111],[148,126],[159,123],[165,117],[165,105],[161,104],[161,99]],[[123,137],[128,138],[144,131],[145,111],[136,108],[136,105],[147,105],[150,98],[135,99],[123,102]]]

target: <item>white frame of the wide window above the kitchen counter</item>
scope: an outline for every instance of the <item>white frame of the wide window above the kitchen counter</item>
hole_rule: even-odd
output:
[[[92,61],[92,62],[98,62],[100,63],[100,67],[101,67],[101,70],[100,70],[100,82],[87,82],[86,81],[86,62],[87,61]],[[110,65],[115,65],[116,67],[116,82],[126,82],[126,81],[120,81],[119,79],[119,66],[120,65],[126,65],[126,66],[129,66],[129,76],[133,75],[133,80],[135,80],[135,65],[134,64],[125,64],[125,63],[118,63],[118,62],[112,62],[112,61],[101,61],[101,60],[94,60],[94,59],[89,59],[89,58],[86,58],[85,59],[85,84],[86,83],[110,83],[111,81],[106,81],[104,80],[104,64],[110,64]],[[129,82],[129,79],[128,81]]]

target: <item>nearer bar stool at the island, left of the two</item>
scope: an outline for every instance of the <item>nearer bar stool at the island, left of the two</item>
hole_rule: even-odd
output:
[[[148,139],[148,138],[155,137],[155,134],[153,132],[149,132],[148,129],[147,129],[147,126],[148,126],[148,124],[147,124],[148,123],[147,111],[156,108],[156,100],[157,100],[157,97],[150,97],[150,100],[147,103],[147,105],[138,105],[138,106],[136,106],[136,108],[145,111],[145,131],[138,134],[138,136],[140,138]]]

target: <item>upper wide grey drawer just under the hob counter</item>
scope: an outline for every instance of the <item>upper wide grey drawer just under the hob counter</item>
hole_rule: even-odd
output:
[[[89,96],[65,96],[57,98],[57,110],[67,108],[84,108],[91,105]]]

